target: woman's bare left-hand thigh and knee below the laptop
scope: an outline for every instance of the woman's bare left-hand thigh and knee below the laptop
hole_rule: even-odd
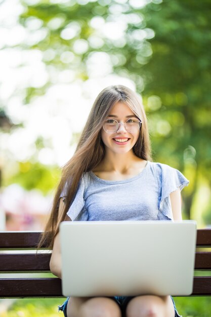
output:
[[[71,297],[66,312],[67,317],[121,317],[118,304],[108,297]]]

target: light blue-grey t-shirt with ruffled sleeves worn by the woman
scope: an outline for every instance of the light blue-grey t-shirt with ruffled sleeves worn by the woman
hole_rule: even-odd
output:
[[[67,215],[72,221],[173,220],[170,193],[188,183],[180,171],[150,161],[138,175],[124,180],[103,180],[87,172]],[[66,187],[60,196],[65,200],[65,195]]]

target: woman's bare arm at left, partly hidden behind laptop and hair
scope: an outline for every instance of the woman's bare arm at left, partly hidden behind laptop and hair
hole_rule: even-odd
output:
[[[65,204],[62,199],[59,202],[59,214],[63,212]],[[71,219],[66,216],[65,221],[71,221]],[[62,276],[62,259],[61,259],[61,248],[60,248],[60,234],[57,233],[54,239],[54,245],[50,260],[50,270],[51,272],[61,279]]]

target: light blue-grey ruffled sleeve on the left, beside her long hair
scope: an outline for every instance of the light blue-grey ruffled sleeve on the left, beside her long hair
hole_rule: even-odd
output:
[[[68,187],[68,184],[66,183],[60,194],[60,197],[62,197],[64,202],[66,200],[67,187]],[[76,221],[76,220],[86,221],[88,219],[88,212],[85,209],[85,201],[83,199],[84,191],[85,191],[85,180],[83,177],[81,177],[75,196],[73,197],[73,200],[67,212],[68,217],[70,217],[72,221]]]

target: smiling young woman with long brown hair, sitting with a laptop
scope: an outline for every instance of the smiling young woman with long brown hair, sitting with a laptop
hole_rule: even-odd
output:
[[[181,189],[188,180],[151,162],[146,114],[124,86],[97,97],[77,149],[64,166],[40,244],[53,233],[51,271],[61,276],[59,224],[80,220],[181,220]],[[71,252],[71,250],[70,250]],[[68,317],[178,317],[171,296],[71,297],[59,306]]]

